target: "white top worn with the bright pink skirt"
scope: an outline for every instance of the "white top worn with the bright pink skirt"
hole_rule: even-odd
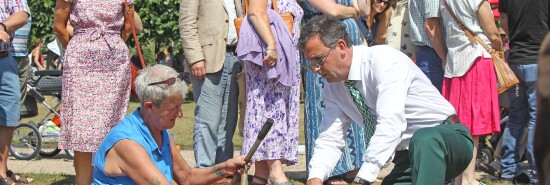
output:
[[[477,10],[479,9],[483,0],[467,0],[467,1],[452,1],[449,0],[449,7],[452,9],[458,20],[474,32],[481,40],[487,45],[491,45],[489,39],[485,36],[481,27],[481,22],[477,16]],[[464,34],[464,31],[460,29],[458,23],[451,17],[449,11],[445,7],[444,0],[439,3],[441,19],[443,27],[445,28],[445,40],[447,42],[447,64],[445,65],[445,77],[461,77],[470,67],[474,64],[476,58],[484,56],[485,58],[491,58],[491,55],[485,51],[485,48],[480,44],[474,45],[468,37]]]

